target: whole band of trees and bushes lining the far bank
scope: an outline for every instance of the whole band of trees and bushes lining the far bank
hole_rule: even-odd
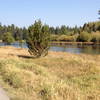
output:
[[[26,40],[31,27],[32,25],[20,28],[14,24],[8,26],[0,24],[0,40],[3,40],[8,32],[14,41]],[[65,25],[49,27],[49,33],[51,41],[100,43],[100,21],[85,23],[82,27]]]

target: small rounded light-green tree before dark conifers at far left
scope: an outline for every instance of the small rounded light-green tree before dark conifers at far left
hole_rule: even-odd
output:
[[[11,44],[12,42],[14,42],[14,38],[10,32],[4,33],[3,42],[6,44]]]

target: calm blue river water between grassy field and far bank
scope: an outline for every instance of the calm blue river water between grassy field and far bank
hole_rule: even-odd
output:
[[[11,44],[14,47],[21,47],[19,43]],[[0,43],[0,46],[4,46],[4,43]],[[22,48],[27,48],[25,43],[22,44]],[[85,54],[100,54],[100,45],[95,46],[78,46],[78,45],[65,45],[65,46],[51,46],[50,51],[61,51],[61,52],[70,52],[70,53],[85,53]]]

